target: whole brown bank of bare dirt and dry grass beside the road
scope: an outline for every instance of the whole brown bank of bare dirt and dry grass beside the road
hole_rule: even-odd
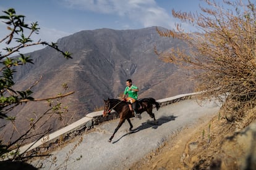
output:
[[[203,118],[194,126],[182,129],[179,134],[171,137],[169,140],[171,142],[166,142],[163,147],[145,156],[130,169],[207,169],[210,167],[239,169],[236,159],[241,158],[244,153],[241,153],[242,151],[239,149],[234,149],[239,146],[231,144],[228,148],[231,149],[233,155],[226,155],[223,145],[229,141],[228,139],[236,136],[242,127],[255,121],[255,111],[256,108],[247,111],[246,118],[241,121],[239,126],[234,123],[226,123],[223,110],[220,111],[221,117],[215,115],[210,118],[210,121]],[[204,136],[202,135],[203,131],[205,132]],[[221,160],[224,159],[233,161],[226,161],[221,165]]]

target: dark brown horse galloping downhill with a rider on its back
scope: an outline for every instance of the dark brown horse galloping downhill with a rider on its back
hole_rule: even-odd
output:
[[[117,113],[119,113],[119,118],[120,118],[120,121],[116,129],[114,129],[113,135],[108,140],[108,142],[111,142],[111,140],[114,137],[114,134],[116,134],[116,132],[122,126],[124,121],[126,120],[128,121],[128,123],[130,124],[129,130],[132,131],[133,126],[132,126],[132,123],[130,122],[130,118],[134,117],[134,115],[132,114],[132,111],[130,111],[128,103],[123,100],[109,99],[109,98],[108,100],[105,100],[105,99],[103,100],[105,102],[103,117],[106,117],[111,110],[114,110]],[[139,103],[137,104],[139,105],[139,108],[137,108],[137,113],[141,114],[143,111],[147,111],[148,115],[150,115],[150,117],[153,118],[154,121],[156,122],[155,114],[152,112],[153,105],[155,105],[156,110],[158,110],[160,108],[160,103],[156,102],[156,100],[153,98],[139,99],[136,102]]]

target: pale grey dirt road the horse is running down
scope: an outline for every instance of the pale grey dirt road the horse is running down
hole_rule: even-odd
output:
[[[132,119],[134,131],[129,131],[125,122],[117,131],[111,143],[119,119],[108,121],[87,134],[76,147],[79,137],[65,147],[55,150],[53,156],[43,161],[46,169],[129,169],[130,166],[148,153],[161,147],[184,128],[195,125],[200,118],[210,119],[220,109],[220,104],[211,101],[198,105],[196,100],[173,103],[160,110],[153,110],[158,124],[154,124],[146,112],[142,119]],[[72,152],[72,148],[75,148]],[[69,154],[71,153],[72,154]],[[56,161],[53,163],[56,157]]]

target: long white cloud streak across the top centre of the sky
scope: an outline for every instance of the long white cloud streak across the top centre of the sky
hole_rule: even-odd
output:
[[[117,14],[138,22],[144,27],[173,28],[172,17],[154,0],[62,0],[67,7],[93,11],[100,14]]]

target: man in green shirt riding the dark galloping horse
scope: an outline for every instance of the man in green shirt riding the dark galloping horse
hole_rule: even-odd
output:
[[[126,80],[126,89],[124,89],[124,94],[122,95],[122,99],[124,100],[124,97],[126,97],[126,94],[128,94],[127,102],[129,102],[129,108],[130,111],[134,114],[135,118],[141,119],[142,116],[140,114],[137,114],[137,102],[139,88],[134,86],[132,84],[132,79]]]

